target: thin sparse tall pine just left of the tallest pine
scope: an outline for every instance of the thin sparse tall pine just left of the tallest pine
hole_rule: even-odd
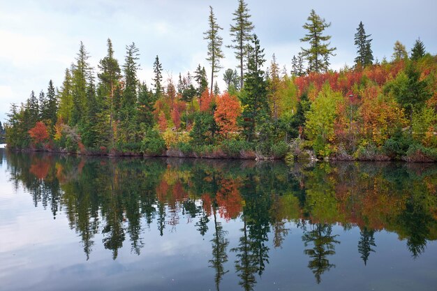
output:
[[[209,29],[205,31],[205,37],[203,39],[208,40],[208,57],[207,61],[211,64],[211,90],[210,94],[213,93],[214,89],[214,77],[216,73],[221,69],[220,59],[223,59],[225,56],[221,50],[221,45],[223,44],[223,38],[218,35],[218,31],[222,29],[218,26],[216,17],[212,11],[212,7],[209,6]]]

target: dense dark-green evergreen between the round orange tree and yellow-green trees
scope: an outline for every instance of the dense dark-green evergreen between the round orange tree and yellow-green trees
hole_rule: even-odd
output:
[[[248,71],[244,75],[244,94],[242,94],[242,116],[240,125],[243,134],[251,142],[255,137],[255,126],[267,114],[267,84],[264,80],[264,49],[260,47],[260,40],[253,36],[253,47],[249,49]]]

